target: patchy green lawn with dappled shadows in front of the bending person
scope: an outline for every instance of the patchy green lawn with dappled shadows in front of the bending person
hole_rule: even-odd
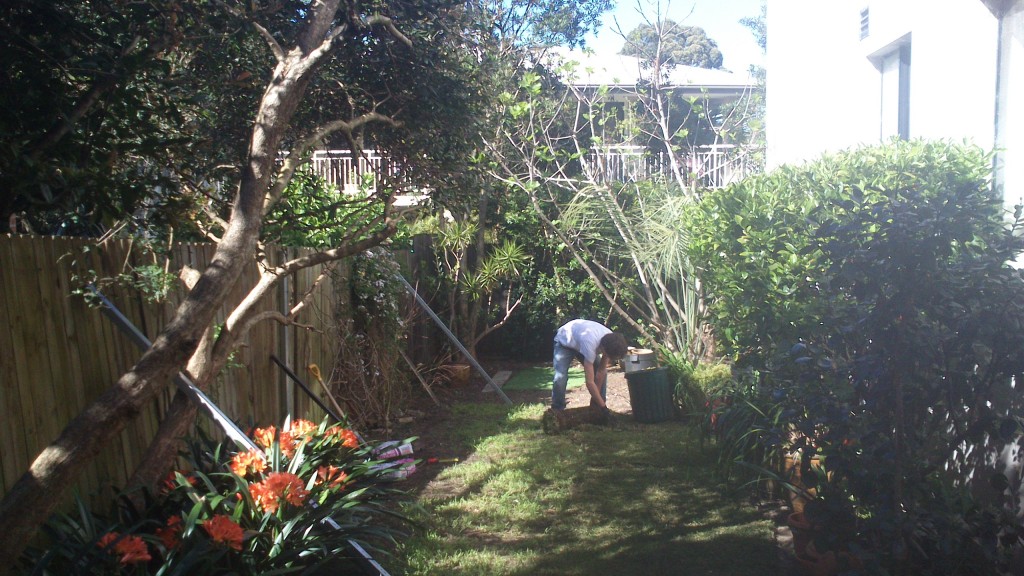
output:
[[[778,573],[771,523],[681,423],[541,430],[539,404],[455,408],[465,461],[410,513],[393,574]]]

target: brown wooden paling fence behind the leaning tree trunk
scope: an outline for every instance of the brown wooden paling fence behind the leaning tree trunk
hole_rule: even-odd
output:
[[[115,277],[134,266],[163,265],[133,250],[129,241],[0,236],[0,493],[6,493],[39,451],[65,425],[129,369],[141,352],[97,307],[73,295],[88,271]],[[176,244],[169,270],[189,265],[202,271],[213,255],[211,244]],[[295,249],[268,251],[270,264],[296,255]],[[263,310],[286,310],[308,290],[321,269],[287,278],[262,303]],[[217,322],[258,278],[250,265]],[[340,284],[336,284],[340,283]],[[323,412],[291,385],[270,355],[307,379],[306,366],[316,364],[328,380],[338,354],[338,317],[347,306],[344,270],[315,292],[300,322],[309,328],[264,322],[253,328],[232,362],[207,394],[243,428],[280,423],[286,414],[318,421]],[[148,338],[171,318],[183,292],[153,303],[135,290],[112,286],[104,294]],[[230,307],[229,307],[230,306]],[[330,380],[328,380],[330,381]],[[315,385],[314,382],[308,382]],[[174,392],[168,384],[159,398],[108,446],[82,476],[77,492],[93,502],[108,502],[110,488],[123,486],[139,455],[154,437],[161,414]],[[203,417],[201,416],[201,420]]]

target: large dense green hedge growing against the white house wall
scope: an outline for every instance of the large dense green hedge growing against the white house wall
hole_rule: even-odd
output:
[[[820,456],[805,482],[831,496],[812,509],[856,518],[886,570],[994,574],[1024,542],[1020,479],[992,467],[1024,416],[1024,276],[1007,263],[1022,222],[989,173],[973,147],[893,142],[755,178],[694,218],[713,322],[759,374],[724,446]]]

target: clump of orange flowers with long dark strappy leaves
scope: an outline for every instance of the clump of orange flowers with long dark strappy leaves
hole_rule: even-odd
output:
[[[51,545],[27,560],[52,574],[289,573],[353,558],[352,542],[379,551],[399,534],[385,504],[400,475],[351,429],[295,420],[251,438],[259,448],[245,452],[193,441],[186,469],[145,494],[144,509],[55,517]]]

